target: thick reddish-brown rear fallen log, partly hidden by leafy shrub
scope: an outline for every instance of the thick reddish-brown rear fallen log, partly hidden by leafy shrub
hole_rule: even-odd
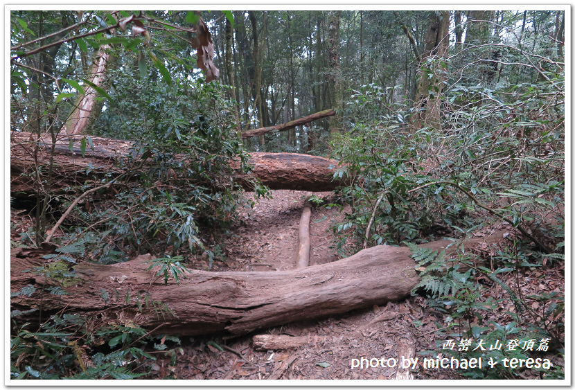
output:
[[[30,133],[14,133],[10,137],[10,192],[27,196],[35,193],[35,165],[48,164],[50,161],[51,139],[45,136],[41,139],[37,162],[33,156],[35,141],[31,141]],[[101,180],[109,175],[121,175],[117,167],[118,161],[126,159],[133,143],[92,136],[94,149],[85,149],[82,157],[80,140],[83,136],[60,136],[56,141],[53,155],[53,170],[51,190],[61,191],[69,186],[78,186],[90,182],[101,184]],[[73,151],[69,148],[73,140]],[[329,191],[336,188],[342,181],[333,180],[338,161],[324,157],[295,153],[261,153],[254,152],[248,160],[254,167],[251,174],[240,171],[239,163],[232,161],[235,175],[243,188],[252,190],[250,177],[260,179],[262,184],[272,190],[308,190]]]

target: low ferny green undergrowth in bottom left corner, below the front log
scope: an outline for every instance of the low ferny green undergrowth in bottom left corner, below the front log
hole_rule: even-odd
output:
[[[156,360],[145,349],[175,356],[163,342],[154,344],[161,336],[149,336],[130,321],[101,322],[57,314],[35,332],[30,323],[14,323],[10,379],[134,379],[146,375]],[[171,339],[179,344],[177,337]]]

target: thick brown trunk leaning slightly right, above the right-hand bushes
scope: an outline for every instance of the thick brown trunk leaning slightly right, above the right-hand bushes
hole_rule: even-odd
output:
[[[441,94],[447,71],[443,60],[449,47],[449,19],[449,11],[441,11],[439,15],[433,13],[427,26],[416,91],[417,109],[412,116],[416,130],[421,127],[441,130]]]

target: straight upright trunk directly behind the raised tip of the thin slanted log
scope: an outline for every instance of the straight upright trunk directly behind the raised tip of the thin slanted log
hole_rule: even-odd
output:
[[[328,55],[329,55],[329,75],[328,85],[330,92],[331,107],[336,110],[342,109],[343,91],[342,75],[339,69],[339,19],[342,11],[331,11],[328,21]],[[341,129],[341,115],[330,118],[330,134],[337,134]]]

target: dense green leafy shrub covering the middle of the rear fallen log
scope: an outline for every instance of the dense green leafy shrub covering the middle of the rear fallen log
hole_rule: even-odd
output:
[[[232,219],[242,205],[234,170],[249,167],[224,92],[201,80],[173,80],[169,87],[115,79],[109,92],[114,103],[95,129],[136,146],[121,161],[127,175],[119,190],[112,197],[96,194],[95,200],[104,200],[95,213],[83,215],[86,224],[105,221],[100,233],[85,233],[101,262],[134,252],[176,254],[184,246],[206,251],[202,229],[209,233]]]

